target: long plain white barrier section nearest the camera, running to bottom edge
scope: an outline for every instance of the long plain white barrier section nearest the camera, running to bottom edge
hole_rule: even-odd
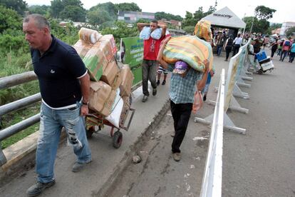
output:
[[[224,69],[222,69],[200,197],[222,196],[224,92]]]

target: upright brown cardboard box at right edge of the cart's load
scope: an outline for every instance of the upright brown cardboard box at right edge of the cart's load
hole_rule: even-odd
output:
[[[124,65],[120,69],[120,76],[122,77],[122,83],[120,84],[120,96],[130,96],[134,76],[128,65]]]

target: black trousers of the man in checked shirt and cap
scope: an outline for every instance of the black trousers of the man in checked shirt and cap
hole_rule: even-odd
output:
[[[180,153],[180,145],[183,138],[185,138],[187,124],[190,121],[190,114],[192,113],[192,103],[175,104],[173,101],[170,101],[170,106],[175,129],[175,136],[172,141],[172,153]]]

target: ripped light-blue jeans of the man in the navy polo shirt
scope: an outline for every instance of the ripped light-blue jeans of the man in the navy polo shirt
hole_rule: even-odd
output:
[[[55,110],[45,104],[41,105],[41,120],[39,138],[36,151],[37,180],[48,183],[54,180],[54,161],[58,149],[61,128],[64,127],[68,135],[68,143],[79,163],[91,161],[91,152],[86,138],[83,117],[80,116],[81,104],[73,109]]]

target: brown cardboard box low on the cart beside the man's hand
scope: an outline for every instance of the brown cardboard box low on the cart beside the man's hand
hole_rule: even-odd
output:
[[[103,116],[108,116],[113,104],[112,99],[115,99],[114,93],[105,82],[90,81],[89,108]]]

